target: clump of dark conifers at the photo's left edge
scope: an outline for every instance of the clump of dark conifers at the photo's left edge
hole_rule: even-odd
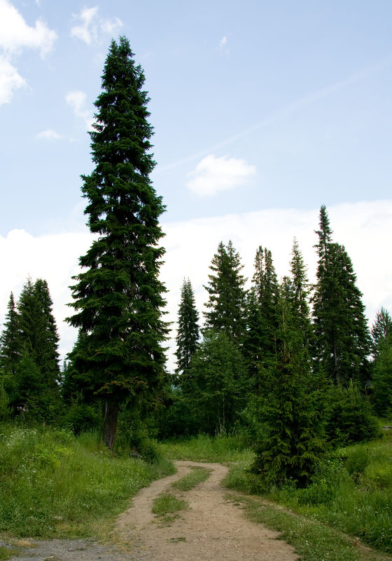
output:
[[[1,336],[2,384],[14,414],[52,421],[59,413],[58,340],[48,283],[28,278],[17,306],[10,297]]]

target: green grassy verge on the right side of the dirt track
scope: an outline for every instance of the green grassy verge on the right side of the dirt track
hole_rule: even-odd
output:
[[[238,436],[199,435],[160,447],[171,459],[228,464],[224,485],[241,492],[228,496],[243,503],[255,522],[283,532],[303,561],[390,558],[384,554],[392,553],[392,431],[335,449],[302,489],[288,482],[266,490],[251,471],[254,452]]]

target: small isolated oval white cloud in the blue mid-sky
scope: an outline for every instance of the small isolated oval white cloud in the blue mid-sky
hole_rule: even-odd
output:
[[[200,196],[215,195],[218,191],[239,187],[255,173],[255,165],[248,165],[244,160],[209,154],[188,173],[190,180],[186,186]]]

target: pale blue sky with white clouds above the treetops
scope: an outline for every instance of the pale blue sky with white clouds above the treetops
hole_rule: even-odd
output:
[[[68,287],[91,243],[87,131],[123,34],[151,98],[174,329],[183,278],[202,312],[220,241],[248,278],[267,247],[281,277],[295,236],[314,280],[323,204],[370,324],[392,313],[391,20],[389,0],[0,0],[0,323],[10,292],[45,278],[71,350]]]

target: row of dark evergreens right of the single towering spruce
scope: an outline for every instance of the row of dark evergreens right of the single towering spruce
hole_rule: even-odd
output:
[[[316,234],[314,285],[294,240],[290,275],[279,282],[260,246],[246,290],[230,241],[211,262],[202,326],[190,280],[181,288],[166,434],[245,430],[257,449],[253,469],[274,483],[304,484],[328,446],[372,438],[374,414],[392,412],[391,316],[381,309],[367,327],[325,206]]]

